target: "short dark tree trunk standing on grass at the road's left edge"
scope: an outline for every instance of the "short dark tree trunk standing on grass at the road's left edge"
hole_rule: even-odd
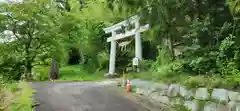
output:
[[[59,63],[53,57],[52,58],[52,63],[51,63],[51,69],[50,69],[50,72],[49,72],[49,79],[54,80],[54,79],[58,79],[58,77],[59,77]]]

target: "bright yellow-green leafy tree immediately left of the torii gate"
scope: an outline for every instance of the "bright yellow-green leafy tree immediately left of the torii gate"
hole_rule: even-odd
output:
[[[70,10],[62,11],[61,30],[68,37],[65,45],[68,49],[78,49],[81,55],[81,64],[88,64],[87,66],[95,71],[104,66],[102,64],[108,60],[102,56],[108,55],[104,26],[110,24],[110,21],[115,22],[117,19],[123,18],[123,16],[109,10],[105,0],[86,0],[84,6],[79,4],[78,0],[68,0],[68,4]]]

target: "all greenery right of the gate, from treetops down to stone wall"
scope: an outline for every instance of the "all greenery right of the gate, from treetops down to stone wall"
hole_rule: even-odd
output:
[[[151,24],[143,39],[158,48],[158,57],[150,72],[136,77],[182,82],[190,87],[208,86],[206,83],[209,87],[239,86],[239,0],[108,2],[109,7],[123,6],[122,11],[139,14]]]

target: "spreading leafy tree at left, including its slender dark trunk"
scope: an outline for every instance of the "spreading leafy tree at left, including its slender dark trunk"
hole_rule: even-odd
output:
[[[17,53],[25,67],[25,77],[30,79],[32,68],[43,55],[51,57],[60,52],[62,36],[59,33],[60,13],[51,0],[24,0],[22,3],[3,5],[8,14],[1,21],[14,41],[6,43],[7,50]],[[54,53],[53,53],[54,52]],[[59,55],[59,54],[56,54]]]

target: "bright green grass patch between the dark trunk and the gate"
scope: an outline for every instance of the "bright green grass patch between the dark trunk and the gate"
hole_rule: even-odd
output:
[[[65,66],[60,69],[59,81],[96,81],[102,80],[105,71],[89,73],[80,65]]]

